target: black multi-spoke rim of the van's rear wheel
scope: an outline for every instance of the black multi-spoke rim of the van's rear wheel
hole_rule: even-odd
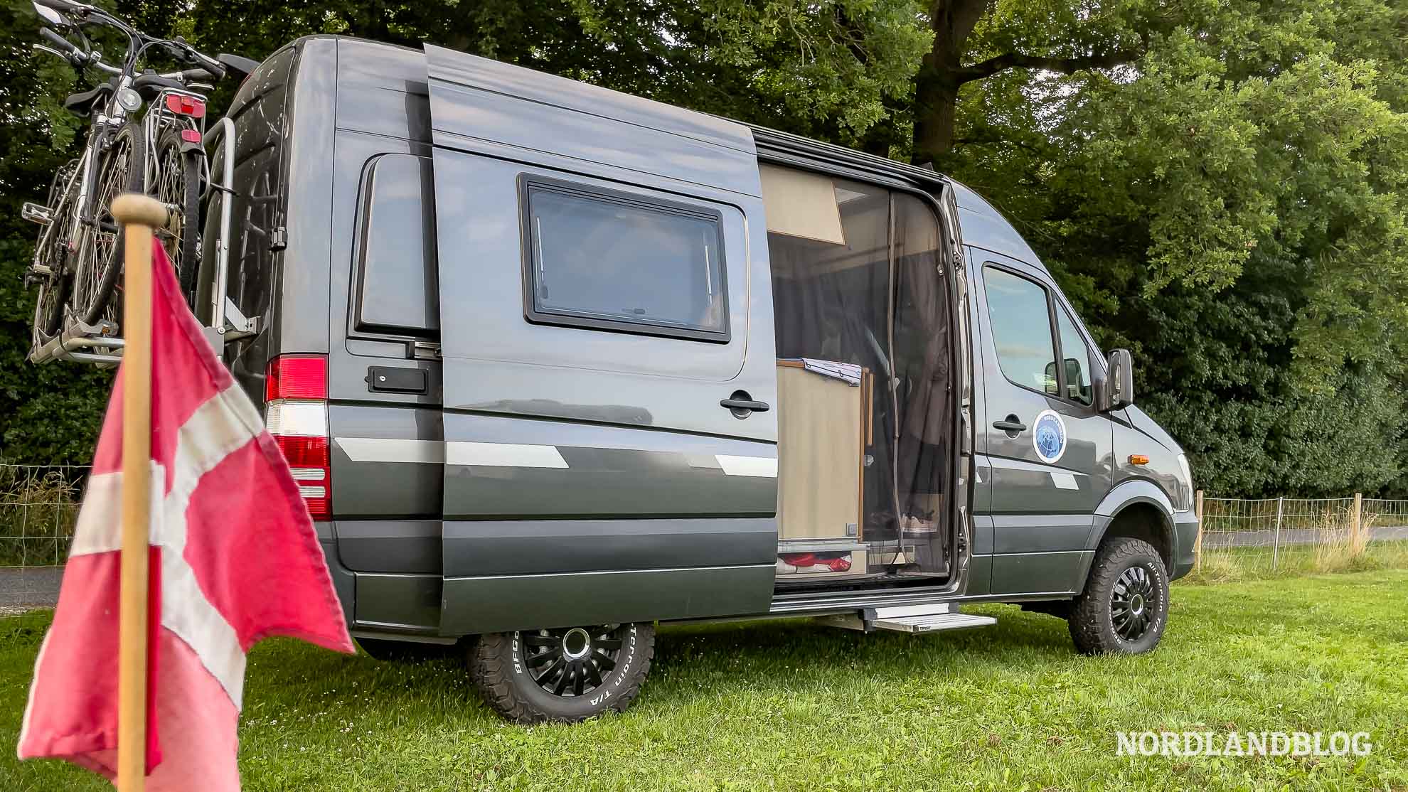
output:
[[[601,686],[621,656],[625,625],[559,627],[518,633],[528,675],[555,696],[580,696]]]

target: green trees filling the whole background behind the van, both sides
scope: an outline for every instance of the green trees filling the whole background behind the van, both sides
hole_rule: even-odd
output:
[[[1408,6],[1395,0],[122,0],[262,58],[441,44],[890,155],[1001,208],[1200,485],[1408,492]],[[0,456],[86,456],[107,377],[24,363],[18,277],[73,75],[0,11]],[[215,104],[228,98],[227,84]],[[935,142],[942,143],[935,148]]]

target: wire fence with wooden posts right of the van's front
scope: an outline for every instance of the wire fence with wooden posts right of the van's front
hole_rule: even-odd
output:
[[[1197,570],[1219,574],[1333,571],[1370,543],[1408,543],[1408,501],[1197,497]],[[1400,544],[1402,547],[1402,544]]]

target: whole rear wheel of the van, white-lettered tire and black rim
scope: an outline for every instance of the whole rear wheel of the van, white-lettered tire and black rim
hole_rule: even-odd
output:
[[[594,625],[480,636],[469,672],[518,723],[573,723],[631,705],[655,656],[655,625]]]

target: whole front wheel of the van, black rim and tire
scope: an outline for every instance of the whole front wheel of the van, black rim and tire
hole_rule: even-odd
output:
[[[1169,573],[1148,542],[1117,536],[1100,546],[1086,591],[1070,609],[1081,654],[1142,654],[1169,622]]]

